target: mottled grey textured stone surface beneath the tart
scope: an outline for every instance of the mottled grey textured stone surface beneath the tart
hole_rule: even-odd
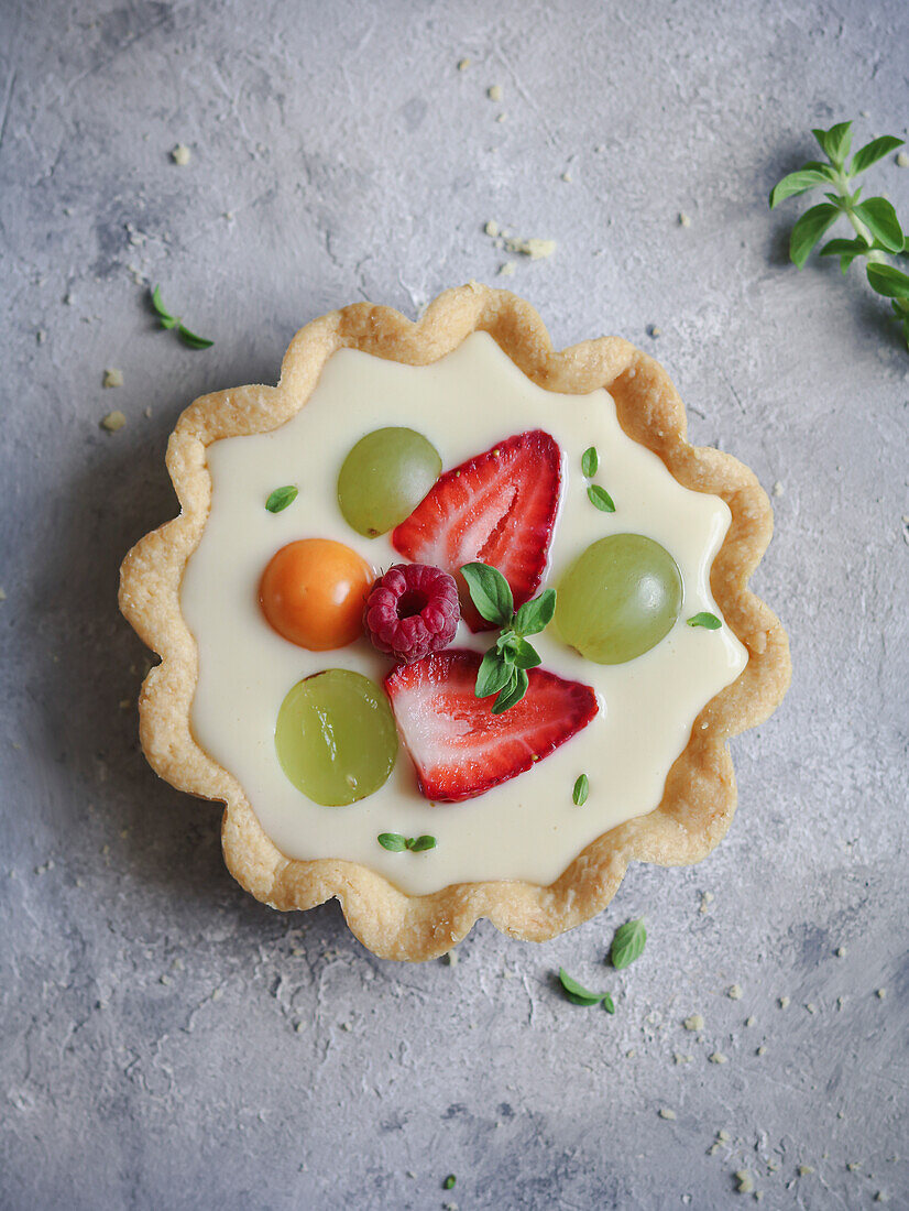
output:
[[[742,1169],[769,1207],[907,1205],[909,355],[858,271],[787,264],[799,203],[766,193],[812,125],[903,132],[908,45],[902,0],[5,0],[4,1211],[721,1207]],[[874,179],[907,217],[909,171]],[[558,251],[506,257],[488,219]],[[218,813],[151,775],[117,566],[173,512],[195,395],[274,381],[327,309],[413,316],[508,259],[557,343],[655,351],[694,438],[782,486],[756,587],[795,682],[733,746],[709,860],[633,868],[548,945],[481,924],[401,966],[335,906],[242,894]],[[154,281],[214,349],[156,331]]]

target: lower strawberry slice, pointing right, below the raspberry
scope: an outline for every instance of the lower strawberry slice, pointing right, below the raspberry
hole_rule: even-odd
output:
[[[531,668],[522,700],[493,714],[473,687],[476,652],[438,652],[385,678],[398,728],[427,799],[458,803],[523,774],[599,710],[589,685]]]

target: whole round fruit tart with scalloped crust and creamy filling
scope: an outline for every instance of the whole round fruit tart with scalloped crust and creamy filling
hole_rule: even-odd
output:
[[[196,400],[167,467],[180,515],[121,575],[161,656],[142,745],[224,804],[259,900],[334,896],[421,960],[479,917],[552,937],[729,828],[727,741],[789,679],[747,587],[770,504],[627,342],[557,352],[476,283],[416,323],[355,304],[277,386]]]

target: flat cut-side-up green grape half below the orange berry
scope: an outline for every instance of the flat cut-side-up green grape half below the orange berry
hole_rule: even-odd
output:
[[[327,668],[298,682],[281,704],[275,747],[298,791],[340,808],[386,782],[398,735],[389,700],[374,682]]]

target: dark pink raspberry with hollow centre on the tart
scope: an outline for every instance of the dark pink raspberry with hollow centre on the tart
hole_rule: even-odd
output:
[[[396,563],[369,591],[363,625],[379,652],[409,665],[447,648],[460,616],[454,576],[427,563]]]

